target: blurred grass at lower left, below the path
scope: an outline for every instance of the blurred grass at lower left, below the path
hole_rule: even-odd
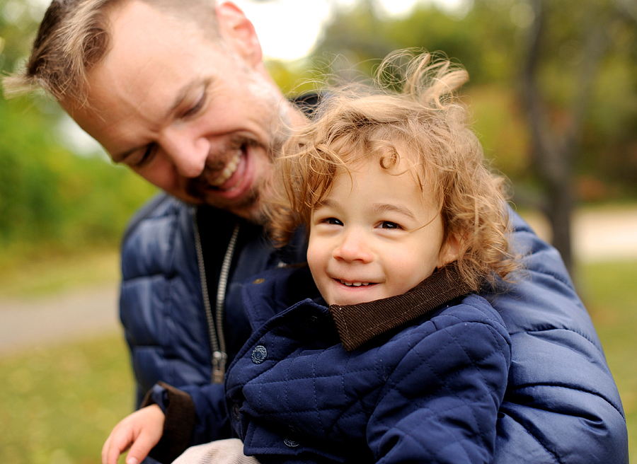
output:
[[[98,464],[113,426],[133,406],[120,335],[0,359],[0,463]]]

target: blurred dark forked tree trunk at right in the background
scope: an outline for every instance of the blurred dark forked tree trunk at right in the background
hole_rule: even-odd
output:
[[[539,85],[542,59],[551,52],[549,47],[552,47],[551,31],[548,30],[549,8],[546,0],[532,0],[532,6],[534,22],[529,28],[526,62],[522,66],[522,99],[531,129],[534,168],[545,189],[543,209],[553,231],[553,245],[572,272],[573,171],[592,96],[592,85],[600,60],[609,45],[609,21],[603,21],[599,11],[591,10],[587,15],[590,21],[581,25],[581,33],[585,37],[581,51],[584,58],[578,69],[573,98],[570,108],[556,110],[546,103]]]

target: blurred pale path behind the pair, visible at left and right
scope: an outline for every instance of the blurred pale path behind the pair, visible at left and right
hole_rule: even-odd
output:
[[[550,239],[545,221],[537,216],[527,220]],[[636,259],[637,208],[580,212],[573,221],[578,260]],[[121,332],[117,293],[117,282],[112,282],[37,300],[0,300],[0,356],[38,344]]]

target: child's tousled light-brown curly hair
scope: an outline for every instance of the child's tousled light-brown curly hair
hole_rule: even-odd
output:
[[[399,64],[407,56],[408,64]],[[401,84],[399,92],[381,85],[393,76],[389,84]],[[505,180],[485,166],[468,110],[455,94],[467,79],[448,60],[396,52],[379,67],[373,87],[328,93],[314,120],[292,134],[275,161],[275,195],[266,205],[275,243],[287,243],[298,226],[309,231],[312,211],[339,167],[348,172],[352,163],[377,160],[390,171],[405,159],[423,195],[432,195],[440,208],[444,240],[459,240],[459,270],[472,289],[517,269]]]

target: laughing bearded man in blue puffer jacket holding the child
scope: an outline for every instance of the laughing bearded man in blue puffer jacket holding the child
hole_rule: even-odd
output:
[[[137,215],[122,245],[120,315],[137,404],[151,390],[166,414],[169,443],[156,456],[227,438],[224,365],[251,332],[241,282],[304,260],[300,234],[275,251],[258,225],[272,153],[302,112],[227,2],[54,1],[25,74],[7,81],[34,83],[113,161],[169,194]],[[515,227],[530,278],[490,296],[513,343],[494,462],[628,462],[624,412],[590,318],[556,250],[517,216]],[[169,419],[193,398],[219,414],[197,417],[194,430],[174,427]]]

